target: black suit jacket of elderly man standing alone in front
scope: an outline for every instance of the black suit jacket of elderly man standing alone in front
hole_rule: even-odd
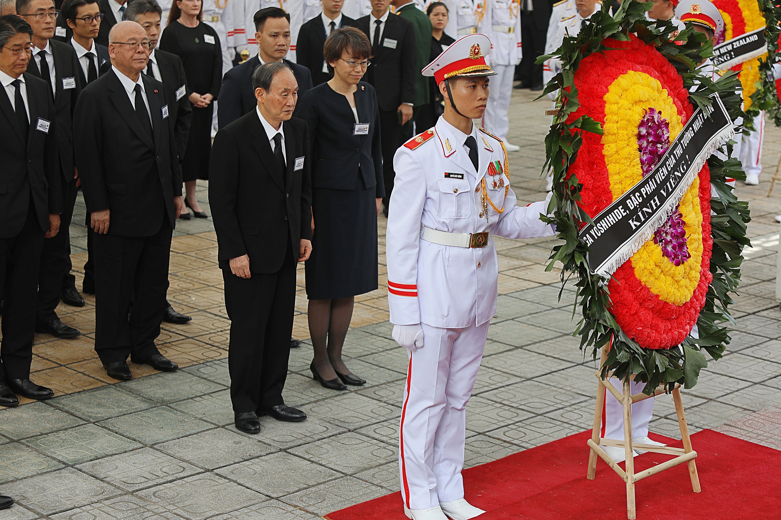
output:
[[[284,176],[257,112],[241,116],[214,138],[209,205],[222,269],[230,269],[231,258],[247,254],[251,272],[275,273],[284,263],[288,238],[295,260],[300,240],[312,239],[309,132],[298,118],[284,122],[282,129],[287,156]],[[298,157],[304,164],[296,170]]]

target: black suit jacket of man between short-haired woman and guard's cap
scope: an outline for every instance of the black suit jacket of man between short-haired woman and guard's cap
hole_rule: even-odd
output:
[[[372,16],[367,15],[357,21],[358,29],[366,33],[369,41],[372,41],[369,32],[371,19]],[[395,48],[391,48],[393,44],[388,40],[396,41]],[[380,48],[373,48],[372,54],[372,65],[364,80],[377,91],[380,110],[396,111],[402,103],[414,103],[415,78],[420,71],[415,70],[415,26],[412,22],[401,16],[388,16]]]

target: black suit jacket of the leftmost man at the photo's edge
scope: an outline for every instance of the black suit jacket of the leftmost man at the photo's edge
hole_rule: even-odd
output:
[[[0,238],[10,239],[22,231],[27,220],[30,194],[41,232],[48,230],[48,214],[62,213],[57,123],[52,94],[43,80],[24,73],[30,131],[27,150],[22,129],[5,89],[0,90]],[[38,121],[50,123],[48,133]],[[5,254],[5,253],[3,253]]]

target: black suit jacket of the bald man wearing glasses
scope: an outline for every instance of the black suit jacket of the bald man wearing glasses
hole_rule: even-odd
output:
[[[162,118],[166,86],[141,74],[152,133],[141,126],[130,97],[113,69],[79,97],[73,123],[77,166],[87,212],[111,210],[109,234],[151,236],[164,215],[174,227],[173,197],[182,194],[182,172],[173,118]]]

